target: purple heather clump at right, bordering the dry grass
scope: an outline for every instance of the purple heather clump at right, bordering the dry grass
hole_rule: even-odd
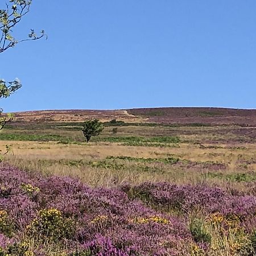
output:
[[[189,213],[200,210],[205,213],[219,212],[241,219],[256,214],[256,196],[240,195],[207,185],[176,185],[170,183],[143,183],[122,186],[130,199],[139,199],[147,205],[164,211],[177,210]]]

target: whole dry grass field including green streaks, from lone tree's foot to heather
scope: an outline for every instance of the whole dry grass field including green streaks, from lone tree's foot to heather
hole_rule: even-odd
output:
[[[133,128],[130,129],[132,132]],[[70,137],[78,136],[72,132],[65,135],[69,133]],[[82,133],[80,135],[82,138]],[[62,144],[35,141],[1,141],[0,146],[2,150],[6,144],[11,146],[12,151],[6,156],[6,161],[17,167],[38,170],[44,175],[78,177],[93,186],[112,187],[126,182],[138,184],[144,181],[170,181],[177,184],[239,186],[242,189],[243,182],[236,179],[231,181],[228,176],[245,174],[248,181],[256,178],[256,144],[199,144],[199,137],[180,137],[185,142],[162,143],[160,146],[152,145],[154,143],[150,146],[125,146],[121,142]],[[189,139],[190,143],[187,142]],[[192,143],[193,140],[196,143]],[[108,159],[110,156],[115,158]],[[118,159],[120,156],[129,156],[131,159]],[[155,160],[138,162],[136,159],[140,158]],[[157,160],[168,158],[179,160],[177,163]]]

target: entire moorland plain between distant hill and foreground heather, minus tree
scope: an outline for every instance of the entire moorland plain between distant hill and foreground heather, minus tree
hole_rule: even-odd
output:
[[[2,150],[6,144],[11,146],[6,161],[45,175],[79,177],[93,186],[170,181],[243,188],[243,180],[228,177],[245,175],[247,181],[256,177],[254,127],[127,125],[118,126],[117,134],[112,134],[113,126],[107,126],[89,143],[85,143],[80,123],[18,122],[7,128],[0,141]],[[179,142],[168,141],[172,137]],[[118,159],[120,156],[131,159]],[[156,160],[143,162],[140,158]],[[179,160],[161,162],[168,158]]]

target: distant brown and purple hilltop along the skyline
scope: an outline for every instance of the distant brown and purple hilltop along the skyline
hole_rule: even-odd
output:
[[[125,122],[256,125],[256,110],[225,108],[144,108],[127,110],[41,110],[15,113],[21,122],[82,122],[89,118]]]

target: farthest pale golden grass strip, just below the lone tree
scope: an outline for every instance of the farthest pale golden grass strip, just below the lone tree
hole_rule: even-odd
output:
[[[56,142],[0,141],[0,150],[11,146],[17,157],[46,159],[106,158],[106,156],[134,156],[140,158],[166,158],[179,156],[192,161],[236,163],[238,159],[256,156],[256,145],[247,145],[247,150],[229,148],[199,148],[197,145],[181,143],[180,147],[122,146],[118,143],[58,144]],[[225,146],[225,145],[222,145]],[[242,153],[242,155],[241,155]]]

